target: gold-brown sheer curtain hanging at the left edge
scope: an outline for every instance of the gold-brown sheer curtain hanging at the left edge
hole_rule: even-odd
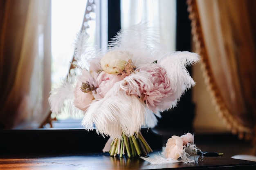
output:
[[[0,128],[37,127],[47,113],[50,5],[0,1]]]

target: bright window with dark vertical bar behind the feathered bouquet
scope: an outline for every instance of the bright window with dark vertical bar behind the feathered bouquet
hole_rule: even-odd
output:
[[[93,0],[89,0],[87,3],[83,0],[65,0],[60,4],[58,0],[52,0],[53,84],[60,77],[65,76],[69,70],[74,51],[71,43],[74,42],[76,33],[81,29],[81,21],[88,4],[93,4],[92,7],[96,8],[95,13],[85,14],[85,19],[91,17],[92,20],[83,24],[84,27],[89,24],[89,29],[86,31],[91,36],[90,41],[94,42],[92,45],[97,44],[101,48],[106,48],[107,40],[113,38],[120,28],[125,29],[144,20],[154,24],[160,30],[163,44],[166,44],[170,51],[175,51],[175,0],[120,0],[120,4],[117,1],[108,1],[107,3]],[[89,7],[89,11],[92,11],[91,6]],[[65,60],[63,60],[64,58]],[[52,115],[52,117],[55,116]],[[60,115],[57,116],[57,119],[58,123],[54,124],[55,127],[80,127],[81,117]]]

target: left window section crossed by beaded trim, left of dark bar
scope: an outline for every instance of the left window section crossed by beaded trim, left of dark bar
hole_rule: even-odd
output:
[[[104,30],[107,22],[106,20],[101,22],[101,18],[106,16],[106,11],[106,1],[52,0],[52,88],[69,72],[74,53],[73,44],[76,34],[81,29],[85,29],[90,35],[89,42],[92,46],[107,47],[107,30]],[[71,118],[73,119],[70,122],[71,126],[81,121],[81,117],[55,115],[54,113],[52,117],[58,120]]]

